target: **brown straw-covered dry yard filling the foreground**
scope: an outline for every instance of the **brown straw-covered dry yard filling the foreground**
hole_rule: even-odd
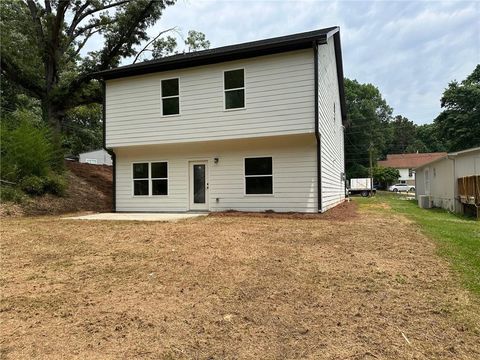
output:
[[[403,217],[10,218],[1,257],[7,359],[480,358],[478,299]]]

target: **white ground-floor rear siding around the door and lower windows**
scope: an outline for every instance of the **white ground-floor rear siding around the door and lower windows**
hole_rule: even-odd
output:
[[[315,138],[310,135],[115,149],[118,211],[189,210],[191,161],[206,161],[211,211],[317,211]],[[245,157],[273,158],[273,195],[245,194]],[[168,160],[168,196],[134,197],[133,162]],[[214,159],[218,158],[218,163]],[[217,201],[218,199],[218,201]]]

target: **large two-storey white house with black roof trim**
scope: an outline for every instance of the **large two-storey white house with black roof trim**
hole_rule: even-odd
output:
[[[97,75],[114,210],[323,212],[345,200],[338,27]]]

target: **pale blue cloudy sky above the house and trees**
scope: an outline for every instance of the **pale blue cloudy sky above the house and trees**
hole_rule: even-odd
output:
[[[480,63],[480,1],[178,0],[149,32],[173,26],[205,33],[211,48],[340,26],[345,76],[417,124]]]

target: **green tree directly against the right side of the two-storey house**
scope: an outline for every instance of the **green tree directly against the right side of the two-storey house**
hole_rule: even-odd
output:
[[[345,79],[347,124],[345,131],[346,167],[369,166],[369,151],[374,161],[382,156],[390,143],[392,108],[372,84]]]

